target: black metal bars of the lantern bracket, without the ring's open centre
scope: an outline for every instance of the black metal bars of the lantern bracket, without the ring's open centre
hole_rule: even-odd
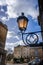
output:
[[[25,33],[25,32],[21,32],[22,33],[22,40],[23,40],[23,42],[24,42],[24,44],[25,45],[36,45],[37,46],[37,43],[38,43],[38,41],[39,41],[39,38],[38,38],[38,35],[37,35],[37,33],[41,33],[41,32],[43,32],[43,31],[36,31],[36,32],[30,32],[30,33]],[[26,43],[25,43],[25,41],[24,41],[24,37],[23,37],[23,35],[26,35],[26,34],[28,34],[27,36],[26,36]],[[36,40],[36,42],[34,43],[34,41],[32,42],[32,43],[34,43],[34,44],[29,44],[28,42],[27,42],[27,37],[29,36],[29,35],[36,35],[36,37],[37,37],[37,40]],[[31,43],[31,42],[30,42]],[[43,45],[43,44],[42,44]]]

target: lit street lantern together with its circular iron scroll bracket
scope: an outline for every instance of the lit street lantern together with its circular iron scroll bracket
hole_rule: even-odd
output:
[[[31,32],[31,33],[24,32],[27,29],[27,25],[28,25],[28,18],[24,16],[24,13],[22,13],[22,15],[17,18],[17,23],[19,30],[22,33],[22,40],[25,45],[35,44],[38,42],[38,36],[36,35],[37,32]]]

